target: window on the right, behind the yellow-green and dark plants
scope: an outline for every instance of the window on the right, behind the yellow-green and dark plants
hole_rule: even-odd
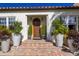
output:
[[[61,20],[70,30],[76,29],[76,16],[61,16]]]

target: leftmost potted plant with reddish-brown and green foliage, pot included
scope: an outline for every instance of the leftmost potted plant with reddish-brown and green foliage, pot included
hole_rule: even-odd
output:
[[[10,49],[11,31],[4,26],[0,26],[1,50],[8,52]]]

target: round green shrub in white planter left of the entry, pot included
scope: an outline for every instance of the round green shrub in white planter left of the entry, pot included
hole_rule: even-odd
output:
[[[22,30],[22,23],[19,21],[15,21],[12,25],[10,30],[12,31],[12,41],[13,46],[18,47],[21,42],[21,30]]]

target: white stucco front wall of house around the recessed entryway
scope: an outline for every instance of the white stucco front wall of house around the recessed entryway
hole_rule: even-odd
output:
[[[34,11],[34,12],[27,12],[27,11],[23,11],[23,12],[0,12],[0,17],[8,17],[8,16],[15,16],[16,20],[21,21],[22,22],[22,26],[23,26],[23,30],[21,31],[22,35],[23,35],[23,41],[28,39],[28,25],[27,25],[27,15],[47,15],[47,25],[49,24],[49,21],[51,19],[51,17],[55,14],[55,12],[59,12],[59,11]],[[62,11],[63,12],[63,11]],[[68,11],[67,11],[68,12]],[[73,11],[69,11],[71,14]],[[68,13],[69,13],[68,12]],[[73,14],[78,14],[77,12],[74,12]],[[48,27],[47,27],[48,28]],[[48,34],[48,33],[47,33]]]

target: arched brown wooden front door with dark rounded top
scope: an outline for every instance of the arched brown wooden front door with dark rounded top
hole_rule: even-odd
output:
[[[41,21],[39,18],[34,18],[32,21],[32,35],[33,39],[41,39],[40,25]]]

